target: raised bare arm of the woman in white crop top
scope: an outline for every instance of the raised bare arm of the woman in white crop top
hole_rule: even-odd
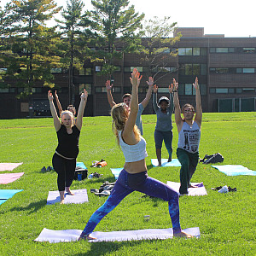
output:
[[[125,128],[122,134],[125,139],[125,143],[131,144],[131,145],[137,143],[133,129],[137,119],[137,111],[138,111],[137,88],[141,82],[141,79],[142,79],[142,76],[140,76],[140,73],[137,72],[137,68],[134,68],[130,78],[131,85],[132,85],[131,102],[130,102],[131,111],[125,123]]]

